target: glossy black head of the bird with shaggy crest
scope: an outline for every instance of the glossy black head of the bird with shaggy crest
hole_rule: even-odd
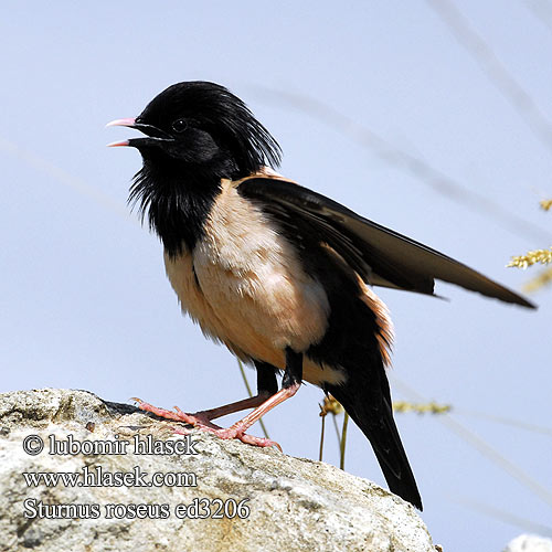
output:
[[[159,169],[242,178],[279,164],[276,140],[248,107],[223,86],[179,83],[153,98],[136,119],[123,119],[147,138],[128,140]]]

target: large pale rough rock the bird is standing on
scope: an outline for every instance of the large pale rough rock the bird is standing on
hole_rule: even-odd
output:
[[[71,442],[76,454],[62,454]],[[137,454],[146,446],[158,448]],[[0,395],[0,489],[6,551],[435,550],[414,508],[370,481],[275,449],[174,436],[170,423],[85,391]]]

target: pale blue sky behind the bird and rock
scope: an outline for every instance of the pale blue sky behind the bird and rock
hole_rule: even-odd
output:
[[[552,28],[528,9],[531,1],[457,3],[552,120]],[[235,361],[181,317],[160,244],[127,213],[138,153],[105,148],[131,134],[105,129],[107,121],[137,115],[179,81],[211,79],[241,96],[279,140],[286,176],[510,287],[535,274],[505,268],[510,255],[552,241],[552,214],[538,206],[552,197],[552,148],[426,2],[57,1],[10,3],[1,12],[3,390],[87,389],[189,411],[244,396]],[[540,226],[543,238],[505,230],[263,87],[332,106]],[[438,291],[452,300],[379,291],[396,329],[394,397],[411,399],[393,385],[396,376],[453,404],[455,421],[550,493],[552,290],[533,296],[538,312],[450,286]],[[317,457],[320,400],[305,386],[266,416],[286,453]],[[498,551],[522,532],[460,501],[551,524],[550,501],[439,420],[396,417],[423,518],[445,550]],[[331,432],[326,450],[337,463]],[[383,484],[357,429],[347,469]]]

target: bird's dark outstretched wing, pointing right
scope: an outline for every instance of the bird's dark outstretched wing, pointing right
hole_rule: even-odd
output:
[[[237,191],[279,222],[308,224],[360,276],[374,286],[434,295],[435,278],[506,302],[535,308],[514,291],[454,258],[364,219],[340,203],[294,182],[252,178]]]

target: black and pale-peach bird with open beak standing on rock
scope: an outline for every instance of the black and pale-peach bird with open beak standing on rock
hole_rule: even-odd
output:
[[[182,310],[203,332],[255,365],[257,395],[180,417],[224,438],[245,432],[302,380],[331,393],[369,438],[392,491],[422,508],[393,421],[385,374],[392,327],[371,286],[435,295],[442,279],[502,301],[527,299],[421,243],[275,173],[279,148],[226,88],[180,83],[136,119],[146,137],[138,201],[164,246]],[[276,373],[284,372],[278,391]],[[212,420],[255,408],[227,429]]]

